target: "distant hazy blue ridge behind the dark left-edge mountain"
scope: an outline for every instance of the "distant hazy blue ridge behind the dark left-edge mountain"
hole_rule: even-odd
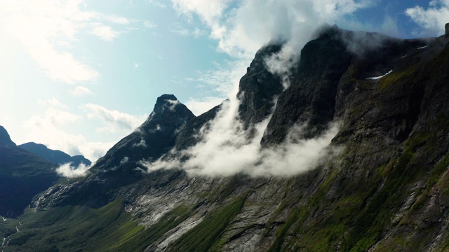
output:
[[[71,157],[70,155],[62,151],[51,150],[43,144],[30,142],[26,144],[20,144],[20,146],[18,147],[24,149],[25,151],[28,151],[29,153],[33,153],[34,155],[37,155],[38,157],[43,158],[48,162],[52,162],[58,165],[72,163],[74,167],[78,167],[79,165],[81,165],[81,163],[87,166],[92,164],[92,162],[87,158],[84,158],[83,155],[74,155],[73,157]]]

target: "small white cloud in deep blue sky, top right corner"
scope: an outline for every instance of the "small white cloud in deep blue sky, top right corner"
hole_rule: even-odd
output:
[[[422,27],[415,34],[438,36],[444,34],[444,25],[449,22],[449,0],[432,0],[427,9],[415,6],[406,10],[413,22]]]

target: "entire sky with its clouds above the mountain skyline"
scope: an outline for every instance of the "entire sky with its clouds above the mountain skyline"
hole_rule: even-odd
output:
[[[196,115],[235,95],[269,41],[299,57],[325,22],[415,38],[443,34],[445,17],[449,0],[1,1],[0,125],[95,161],[161,94]]]

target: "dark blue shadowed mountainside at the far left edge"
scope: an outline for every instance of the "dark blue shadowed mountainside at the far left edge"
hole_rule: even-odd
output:
[[[16,146],[0,126],[0,216],[20,216],[59,176],[56,165]]]

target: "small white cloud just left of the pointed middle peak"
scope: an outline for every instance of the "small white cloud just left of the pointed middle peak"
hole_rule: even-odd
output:
[[[88,118],[99,118],[105,123],[98,128],[100,132],[131,132],[143,123],[143,118],[137,118],[127,113],[109,110],[97,104],[85,104],[82,109],[88,111]]]

